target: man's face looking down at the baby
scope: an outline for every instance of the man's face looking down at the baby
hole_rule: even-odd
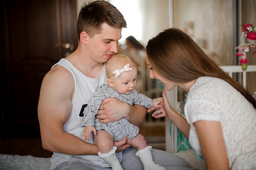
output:
[[[95,34],[92,38],[88,37],[87,50],[90,51],[88,54],[92,59],[105,63],[114,53],[117,53],[121,30],[104,23],[101,33]]]

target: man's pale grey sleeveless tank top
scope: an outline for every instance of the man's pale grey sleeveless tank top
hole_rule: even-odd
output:
[[[101,74],[98,78],[86,77],[78,69],[76,69],[74,65],[72,65],[68,60],[64,58],[62,58],[58,63],[53,65],[52,68],[56,65],[61,65],[62,67],[69,70],[72,73],[75,82],[74,98],[72,99],[72,111],[69,119],[63,125],[63,130],[80,138],[84,129],[83,127],[81,127],[81,124],[83,122],[83,110],[85,109],[92,94],[96,91],[96,89],[100,85],[107,82],[106,64],[104,64]],[[92,136],[89,143],[94,143]],[[82,159],[97,163],[100,166],[110,167],[109,164],[106,163],[106,161],[104,161],[98,155],[69,155],[54,152],[51,158],[51,170],[56,168],[58,164],[64,161],[69,161],[70,159],[72,159],[72,157],[80,157]]]

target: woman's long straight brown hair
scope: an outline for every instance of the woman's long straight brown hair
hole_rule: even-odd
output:
[[[154,69],[170,81],[184,83],[202,76],[220,78],[237,89],[256,108],[256,101],[249,91],[224,72],[180,29],[166,29],[150,39],[146,54]]]

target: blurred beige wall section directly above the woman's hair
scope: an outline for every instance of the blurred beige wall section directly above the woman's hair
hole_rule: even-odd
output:
[[[233,0],[173,0],[173,26],[189,29],[219,65],[233,62]],[[188,24],[186,24],[188,23]]]

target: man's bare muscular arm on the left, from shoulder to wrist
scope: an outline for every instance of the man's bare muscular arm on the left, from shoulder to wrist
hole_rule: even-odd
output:
[[[74,78],[61,66],[55,66],[43,79],[38,102],[38,120],[42,146],[51,152],[97,154],[97,146],[63,131],[70,116]]]

